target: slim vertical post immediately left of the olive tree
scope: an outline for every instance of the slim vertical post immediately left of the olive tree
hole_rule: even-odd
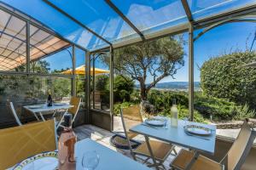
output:
[[[113,47],[110,46],[110,62],[109,62],[109,69],[110,69],[110,75],[109,75],[109,92],[110,92],[110,98],[109,98],[109,104],[110,104],[110,116],[111,116],[111,131],[113,131]]]

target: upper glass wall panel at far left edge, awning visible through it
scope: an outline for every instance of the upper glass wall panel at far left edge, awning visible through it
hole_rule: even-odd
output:
[[[0,10],[0,71],[26,71],[26,22]]]

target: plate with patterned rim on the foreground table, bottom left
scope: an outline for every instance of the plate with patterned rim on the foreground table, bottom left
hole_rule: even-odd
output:
[[[58,152],[49,151],[31,156],[24,161],[18,163],[14,170],[55,170],[58,167]]]

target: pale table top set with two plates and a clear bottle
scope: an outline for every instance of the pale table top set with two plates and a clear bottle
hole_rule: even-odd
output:
[[[204,123],[196,123],[196,122],[188,122],[188,124],[200,125],[203,127],[208,127],[212,129],[212,134],[210,136],[204,136],[201,139],[200,137],[196,137],[196,135],[190,136],[184,132],[185,122],[182,120],[178,120],[177,127],[171,126],[171,118],[165,117],[167,119],[166,128],[165,127],[147,127],[139,124],[135,127],[131,127],[130,131],[134,133],[140,133],[146,135],[148,137],[159,139],[171,144],[177,144],[183,147],[187,147],[190,149],[206,152],[208,154],[214,154],[215,150],[215,139],[216,139],[216,126],[208,125]],[[208,140],[207,140],[208,139]]]

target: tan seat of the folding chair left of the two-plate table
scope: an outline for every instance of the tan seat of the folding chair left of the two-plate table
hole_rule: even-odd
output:
[[[160,161],[164,161],[166,156],[168,156],[172,151],[172,144],[167,144],[158,140],[149,140],[149,144],[153,151],[154,157]],[[148,145],[146,142],[143,142],[143,144],[139,145],[137,149],[134,150],[134,152],[150,157]]]

